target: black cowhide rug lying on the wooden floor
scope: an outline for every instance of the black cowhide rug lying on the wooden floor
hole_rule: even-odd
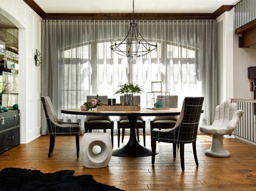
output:
[[[0,171],[0,190],[120,190],[98,183],[92,175],[73,174],[72,170],[45,174],[39,170],[5,168]]]

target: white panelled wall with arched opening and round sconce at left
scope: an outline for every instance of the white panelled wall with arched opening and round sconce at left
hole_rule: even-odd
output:
[[[40,136],[40,67],[34,63],[41,47],[41,17],[23,0],[0,0],[0,14],[19,29],[20,142]]]

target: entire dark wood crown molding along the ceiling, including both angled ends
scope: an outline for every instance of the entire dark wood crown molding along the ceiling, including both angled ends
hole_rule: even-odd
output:
[[[34,0],[23,0],[43,19],[132,19],[131,13],[45,13]],[[135,13],[135,19],[216,19],[234,5],[222,5],[214,13]]]

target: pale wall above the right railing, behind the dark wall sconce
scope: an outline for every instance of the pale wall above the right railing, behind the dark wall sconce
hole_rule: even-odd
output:
[[[248,67],[256,66],[256,45],[250,48],[238,48],[238,37],[234,34],[234,98],[254,99],[253,91],[250,91],[248,79]]]

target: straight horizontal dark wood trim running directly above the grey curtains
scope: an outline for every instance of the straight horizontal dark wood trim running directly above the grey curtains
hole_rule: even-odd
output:
[[[135,19],[215,19],[213,13],[135,13]],[[131,13],[46,13],[43,19],[132,19]]]

